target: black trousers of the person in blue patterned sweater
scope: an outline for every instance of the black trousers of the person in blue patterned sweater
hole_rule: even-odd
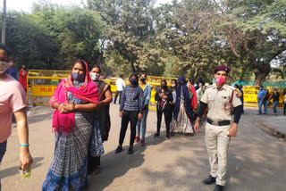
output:
[[[123,110],[122,113],[122,129],[120,129],[119,145],[123,144],[126,130],[128,128],[128,123],[130,122],[130,145],[134,144],[136,137],[136,124],[138,121],[138,111],[126,111]]]

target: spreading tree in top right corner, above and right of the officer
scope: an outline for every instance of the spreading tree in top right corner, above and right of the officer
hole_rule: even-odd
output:
[[[286,50],[286,3],[282,0],[223,2],[224,7],[217,5],[222,13],[224,36],[242,67],[247,60],[248,69],[254,71],[257,85],[261,85],[272,70],[273,60]]]

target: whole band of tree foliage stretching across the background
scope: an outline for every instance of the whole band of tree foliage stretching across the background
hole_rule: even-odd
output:
[[[7,44],[32,69],[66,70],[76,59],[105,75],[213,78],[231,67],[231,81],[257,84],[285,76],[285,0],[88,0],[86,8],[39,0],[31,13],[10,12]]]

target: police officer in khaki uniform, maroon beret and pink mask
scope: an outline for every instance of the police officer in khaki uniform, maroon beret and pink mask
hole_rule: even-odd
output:
[[[241,102],[235,87],[225,84],[229,78],[230,69],[218,66],[214,69],[216,84],[208,86],[200,100],[198,119],[195,131],[198,133],[199,120],[206,107],[208,108],[206,120],[206,149],[211,167],[210,176],[203,180],[206,185],[216,183],[214,191],[223,190],[227,170],[227,153],[231,137],[236,136],[241,114]],[[234,120],[231,124],[231,112]]]

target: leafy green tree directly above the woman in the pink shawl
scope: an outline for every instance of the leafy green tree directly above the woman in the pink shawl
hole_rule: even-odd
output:
[[[47,7],[46,4],[35,7],[33,16],[44,23],[50,36],[54,37],[64,68],[77,59],[83,59],[89,65],[99,63],[99,39],[105,23],[97,12],[80,7]]]

